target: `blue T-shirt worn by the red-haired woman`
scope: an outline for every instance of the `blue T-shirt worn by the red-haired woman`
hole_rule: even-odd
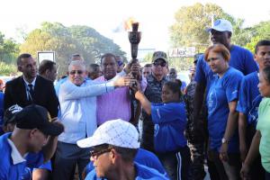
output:
[[[241,72],[229,67],[222,77],[215,75],[211,80],[206,103],[210,148],[213,150],[220,150],[229,116],[229,103],[238,100],[238,89],[242,78]],[[238,130],[229,139],[228,152],[238,152]]]

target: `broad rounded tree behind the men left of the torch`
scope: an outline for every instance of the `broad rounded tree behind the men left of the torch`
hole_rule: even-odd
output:
[[[125,55],[117,44],[91,27],[80,25],[66,27],[61,23],[49,22],[41,23],[40,29],[31,31],[20,50],[29,52],[34,57],[37,56],[37,51],[55,51],[59,76],[66,73],[68,59],[74,53],[82,55],[86,64],[98,62],[106,52]]]

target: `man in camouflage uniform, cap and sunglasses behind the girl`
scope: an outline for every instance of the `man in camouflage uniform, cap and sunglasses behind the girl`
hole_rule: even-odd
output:
[[[152,57],[152,74],[148,76],[145,95],[151,103],[161,103],[162,86],[167,82],[165,70],[167,65],[166,53],[156,51]],[[154,124],[151,116],[143,112],[143,130],[141,147],[154,151]]]

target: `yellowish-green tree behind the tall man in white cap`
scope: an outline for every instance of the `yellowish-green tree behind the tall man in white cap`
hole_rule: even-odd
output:
[[[226,14],[217,4],[193,4],[183,6],[175,13],[175,24],[170,27],[172,47],[196,47],[203,51],[210,45],[209,33],[206,27],[211,27],[211,18],[229,20],[235,29],[243,20],[235,20]]]

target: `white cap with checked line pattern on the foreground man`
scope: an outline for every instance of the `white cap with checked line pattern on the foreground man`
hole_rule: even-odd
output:
[[[128,121],[111,120],[98,127],[92,137],[78,140],[76,144],[80,148],[102,144],[110,144],[121,148],[139,148],[139,133]]]

